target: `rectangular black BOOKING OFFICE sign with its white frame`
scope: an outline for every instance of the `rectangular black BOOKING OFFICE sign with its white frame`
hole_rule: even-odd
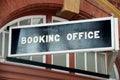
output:
[[[118,20],[95,18],[11,27],[9,56],[118,50]]]

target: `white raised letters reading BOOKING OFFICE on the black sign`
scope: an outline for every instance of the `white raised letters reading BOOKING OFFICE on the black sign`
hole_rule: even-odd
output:
[[[79,33],[68,33],[66,35],[67,40],[76,40],[76,39],[97,39],[100,38],[100,31],[89,31],[89,32],[79,32]],[[47,43],[47,42],[58,42],[60,41],[60,35],[43,35],[43,36],[29,36],[22,37],[21,44],[36,44],[36,43]]]

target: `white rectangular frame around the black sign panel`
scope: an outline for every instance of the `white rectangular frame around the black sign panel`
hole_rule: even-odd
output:
[[[77,49],[77,50],[63,50],[63,51],[50,51],[50,52],[39,52],[39,53],[21,53],[21,54],[11,54],[11,38],[12,36],[12,29],[19,29],[19,28],[31,28],[31,27],[45,27],[45,26],[52,26],[52,25],[61,25],[61,24],[75,24],[75,23],[82,23],[82,22],[94,22],[94,21],[101,21],[101,20],[111,20],[111,47],[106,48],[90,48],[90,49]],[[104,17],[104,18],[94,18],[94,19],[87,19],[87,20],[79,20],[79,21],[68,21],[68,22],[60,22],[60,23],[49,23],[49,24],[40,24],[40,25],[29,25],[29,26],[20,26],[20,27],[10,27],[10,35],[9,35],[9,57],[16,57],[16,56],[31,56],[31,55],[46,55],[46,54],[57,54],[57,53],[71,53],[71,52],[98,52],[98,51],[115,51],[119,50],[118,44],[119,41],[115,40],[118,39],[118,25],[115,27],[114,23],[117,23],[118,19],[113,17]],[[117,36],[115,36],[117,35]]]

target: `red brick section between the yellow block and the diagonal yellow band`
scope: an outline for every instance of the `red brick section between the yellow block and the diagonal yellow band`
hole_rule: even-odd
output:
[[[94,0],[81,0],[80,10],[92,15],[94,18],[110,16],[109,11]]]

